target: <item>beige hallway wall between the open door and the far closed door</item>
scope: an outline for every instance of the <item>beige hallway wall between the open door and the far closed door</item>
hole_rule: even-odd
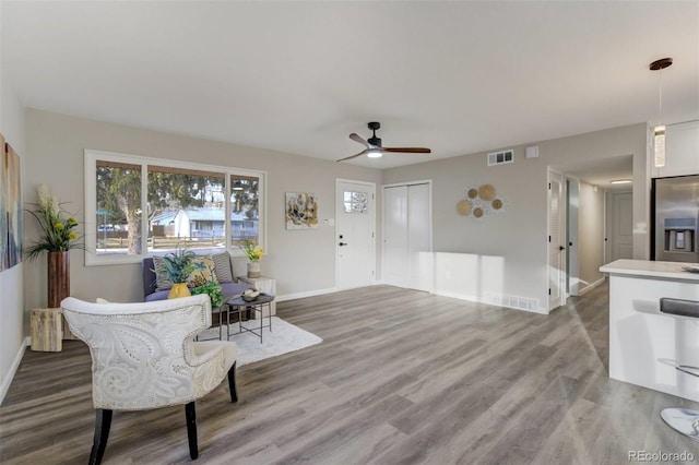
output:
[[[604,190],[580,182],[579,210],[580,293],[604,278]]]

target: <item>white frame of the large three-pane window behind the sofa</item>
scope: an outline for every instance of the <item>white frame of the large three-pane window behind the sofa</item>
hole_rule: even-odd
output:
[[[116,152],[105,152],[92,148],[84,150],[85,156],[85,214],[84,214],[84,237],[85,237],[85,266],[117,265],[125,263],[140,263],[145,257],[153,255],[149,251],[149,215],[141,215],[141,253],[129,254],[97,254],[97,222],[96,215],[87,212],[97,211],[97,160],[125,163],[141,166],[141,211],[147,211],[147,175],[149,166],[157,166],[174,169],[188,169],[197,171],[211,171],[222,174],[225,178],[225,250],[233,257],[245,257],[242,250],[232,245],[230,238],[230,176],[250,176],[259,178],[258,193],[258,242],[264,250],[266,246],[266,171],[259,169],[235,168],[201,163],[179,162],[166,158],[154,158],[139,155],[121,154]],[[205,250],[205,249],[202,249]],[[157,252],[155,253],[157,254]]]

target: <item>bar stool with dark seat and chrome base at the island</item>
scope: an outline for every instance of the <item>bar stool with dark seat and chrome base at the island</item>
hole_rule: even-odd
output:
[[[699,318],[699,301],[663,297],[660,299],[660,311],[678,317]],[[699,367],[675,365],[675,369],[691,377],[699,378]],[[699,412],[682,407],[664,408],[661,418],[674,430],[699,442]]]

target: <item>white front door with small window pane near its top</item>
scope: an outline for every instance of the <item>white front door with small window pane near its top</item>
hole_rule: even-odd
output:
[[[370,182],[335,182],[335,250],[337,289],[370,286],[375,282],[375,191]]]

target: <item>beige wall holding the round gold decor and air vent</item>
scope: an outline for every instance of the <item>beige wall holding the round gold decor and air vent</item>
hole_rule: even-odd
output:
[[[608,129],[550,141],[535,142],[538,158],[524,158],[524,147],[514,147],[514,163],[488,167],[486,154],[391,168],[383,183],[431,179],[433,237],[436,252],[461,252],[498,258],[501,263],[499,291],[506,296],[537,299],[545,306],[547,284],[547,167],[565,172],[567,164],[613,156],[633,156],[635,258],[648,258],[647,124]],[[494,147],[497,150],[500,147]],[[471,184],[493,184],[509,201],[507,212],[474,222],[460,216],[457,202]],[[638,189],[637,189],[638,187]],[[455,270],[454,273],[459,271]],[[451,272],[450,272],[451,273]],[[464,271],[464,273],[471,273]],[[491,281],[476,274],[472,282]]]

